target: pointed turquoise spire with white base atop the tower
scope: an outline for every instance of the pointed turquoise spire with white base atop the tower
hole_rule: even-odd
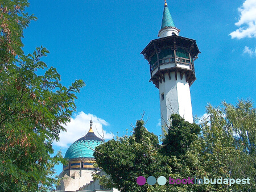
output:
[[[177,29],[174,25],[174,21],[172,20],[172,16],[170,14],[167,2],[166,0],[164,0],[163,19],[158,36],[162,38],[171,35],[179,35],[179,32],[180,30]]]

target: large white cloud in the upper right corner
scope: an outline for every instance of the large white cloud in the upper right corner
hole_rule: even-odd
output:
[[[238,8],[240,19],[235,25],[238,28],[229,35],[232,39],[242,39],[244,37],[256,37],[256,0],[246,0]]]

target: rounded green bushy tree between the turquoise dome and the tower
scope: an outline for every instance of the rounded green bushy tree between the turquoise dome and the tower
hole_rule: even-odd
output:
[[[132,136],[118,137],[96,147],[97,165],[110,176],[101,183],[121,191],[145,191],[147,186],[137,185],[136,178],[151,176],[158,169],[152,166],[158,159],[158,147],[158,137],[144,128],[143,120],[138,120]]]

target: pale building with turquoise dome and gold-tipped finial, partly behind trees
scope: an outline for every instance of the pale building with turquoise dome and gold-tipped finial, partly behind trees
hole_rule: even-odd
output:
[[[94,134],[92,123],[90,120],[88,133],[69,146],[65,153],[68,164],[63,165],[63,172],[59,174],[60,185],[57,186],[56,191],[117,191],[104,189],[98,181],[93,181],[93,173],[101,175],[105,173],[93,166],[96,163],[93,157],[94,149],[103,140]]]

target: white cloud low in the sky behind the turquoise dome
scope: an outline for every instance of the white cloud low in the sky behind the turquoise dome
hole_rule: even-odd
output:
[[[96,136],[104,139],[112,139],[112,133],[108,133],[103,130],[102,125],[109,126],[109,123],[104,119],[98,118],[92,114],[85,114],[84,112],[79,112],[75,118],[71,118],[71,121],[67,123],[67,126],[64,126],[67,129],[67,132],[60,132],[60,141],[53,142],[54,145],[67,148],[70,144],[75,142],[77,139],[80,139],[82,136],[85,136],[90,128],[90,119],[93,121],[93,132]]]

